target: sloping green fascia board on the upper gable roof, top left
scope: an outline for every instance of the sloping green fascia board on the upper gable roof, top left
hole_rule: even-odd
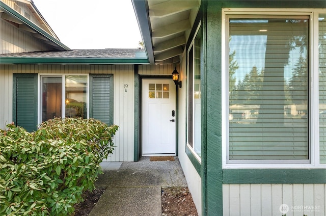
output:
[[[22,16],[21,14],[16,12],[14,9],[12,9],[8,5],[4,4],[3,2],[1,2],[0,8],[1,8],[1,10],[7,12],[8,14],[10,14],[10,15],[16,17],[17,19],[19,19],[20,21],[22,21],[24,24],[29,26],[36,33],[40,34],[41,36],[45,37],[46,39],[48,39],[48,40],[52,41],[53,43],[55,43],[56,45],[58,45],[60,47],[59,48],[60,50],[70,50],[70,48],[68,46],[66,46],[61,41],[54,38],[53,36],[51,36],[47,32],[45,32],[39,26],[37,26],[36,24],[31,22],[30,20],[26,19],[24,16]]]

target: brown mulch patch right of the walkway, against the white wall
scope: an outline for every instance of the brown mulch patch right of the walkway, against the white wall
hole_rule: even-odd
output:
[[[197,216],[197,209],[188,187],[162,188],[162,216]]]

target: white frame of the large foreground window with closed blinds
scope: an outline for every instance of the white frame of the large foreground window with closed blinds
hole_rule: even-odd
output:
[[[318,117],[318,17],[319,14],[326,13],[325,9],[252,9],[252,8],[225,8],[222,10],[222,166],[223,169],[261,169],[261,168],[325,168],[326,165],[319,163],[319,117]],[[255,160],[256,163],[248,163],[249,160],[230,160],[229,156],[229,73],[228,73],[228,35],[229,25],[227,23],[227,16],[275,16],[276,18],[282,16],[309,16],[309,47],[308,47],[308,62],[309,62],[309,81],[307,83],[309,88],[309,122],[308,122],[308,156],[309,161],[295,161],[295,160]],[[223,51],[224,50],[224,51]]]

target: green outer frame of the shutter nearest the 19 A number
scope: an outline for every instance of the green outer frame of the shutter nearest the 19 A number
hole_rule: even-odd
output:
[[[110,101],[109,101],[109,107],[110,109],[110,122],[108,122],[108,125],[114,124],[114,82],[113,82],[113,74],[93,74],[90,73],[90,82],[89,82],[89,117],[93,118],[93,78],[94,77],[105,77],[110,78]]]

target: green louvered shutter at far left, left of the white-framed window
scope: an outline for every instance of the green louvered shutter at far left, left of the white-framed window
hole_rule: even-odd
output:
[[[37,130],[37,74],[13,74],[13,121]]]

